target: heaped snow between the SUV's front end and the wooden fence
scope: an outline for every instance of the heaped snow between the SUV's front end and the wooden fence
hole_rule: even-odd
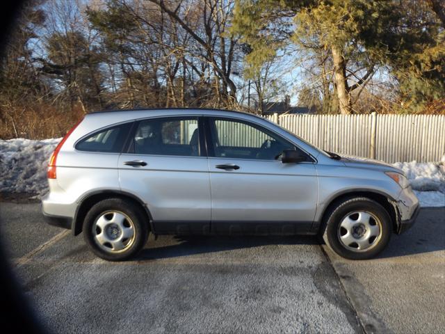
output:
[[[405,172],[412,189],[445,193],[445,155],[442,157],[442,161],[438,163],[396,162],[394,166]]]

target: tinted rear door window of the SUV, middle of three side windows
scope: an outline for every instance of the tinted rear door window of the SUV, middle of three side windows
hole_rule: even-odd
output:
[[[139,122],[133,138],[135,154],[200,155],[197,118],[162,118]]]

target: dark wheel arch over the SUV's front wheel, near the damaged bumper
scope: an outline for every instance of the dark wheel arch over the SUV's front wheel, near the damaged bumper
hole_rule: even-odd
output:
[[[389,196],[387,193],[382,193],[380,191],[375,190],[355,190],[355,191],[345,191],[342,193],[338,193],[336,196],[333,196],[329,200],[327,200],[327,205],[325,205],[323,212],[321,213],[320,218],[316,221],[316,225],[314,226],[315,230],[318,230],[321,234],[323,234],[326,226],[325,222],[327,221],[327,215],[330,212],[330,209],[335,205],[338,205],[340,202],[344,202],[350,198],[357,197],[366,197],[371,200],[375,200],[378,202],[385,210],[388,212],[389,217],[391,218],[391,223],[393,227],[393,232],[398,230],[398,225],[400,224],[400,214],[396,205],[394,205],[394,198]]]

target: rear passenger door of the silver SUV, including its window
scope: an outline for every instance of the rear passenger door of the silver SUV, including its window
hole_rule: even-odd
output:
[[[140,120],[120,155],[120,186],[147,204],[156,232],[209,231],[209,170],[201,128],[197,116]]]

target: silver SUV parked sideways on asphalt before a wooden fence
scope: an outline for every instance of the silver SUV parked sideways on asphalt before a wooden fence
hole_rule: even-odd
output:
[[[403,172],[324,152],[248,113],[90,113],[48,166],[42,211],[106,260],[153,234],[318,234],[367,259],[410,228],[419,201]]]

